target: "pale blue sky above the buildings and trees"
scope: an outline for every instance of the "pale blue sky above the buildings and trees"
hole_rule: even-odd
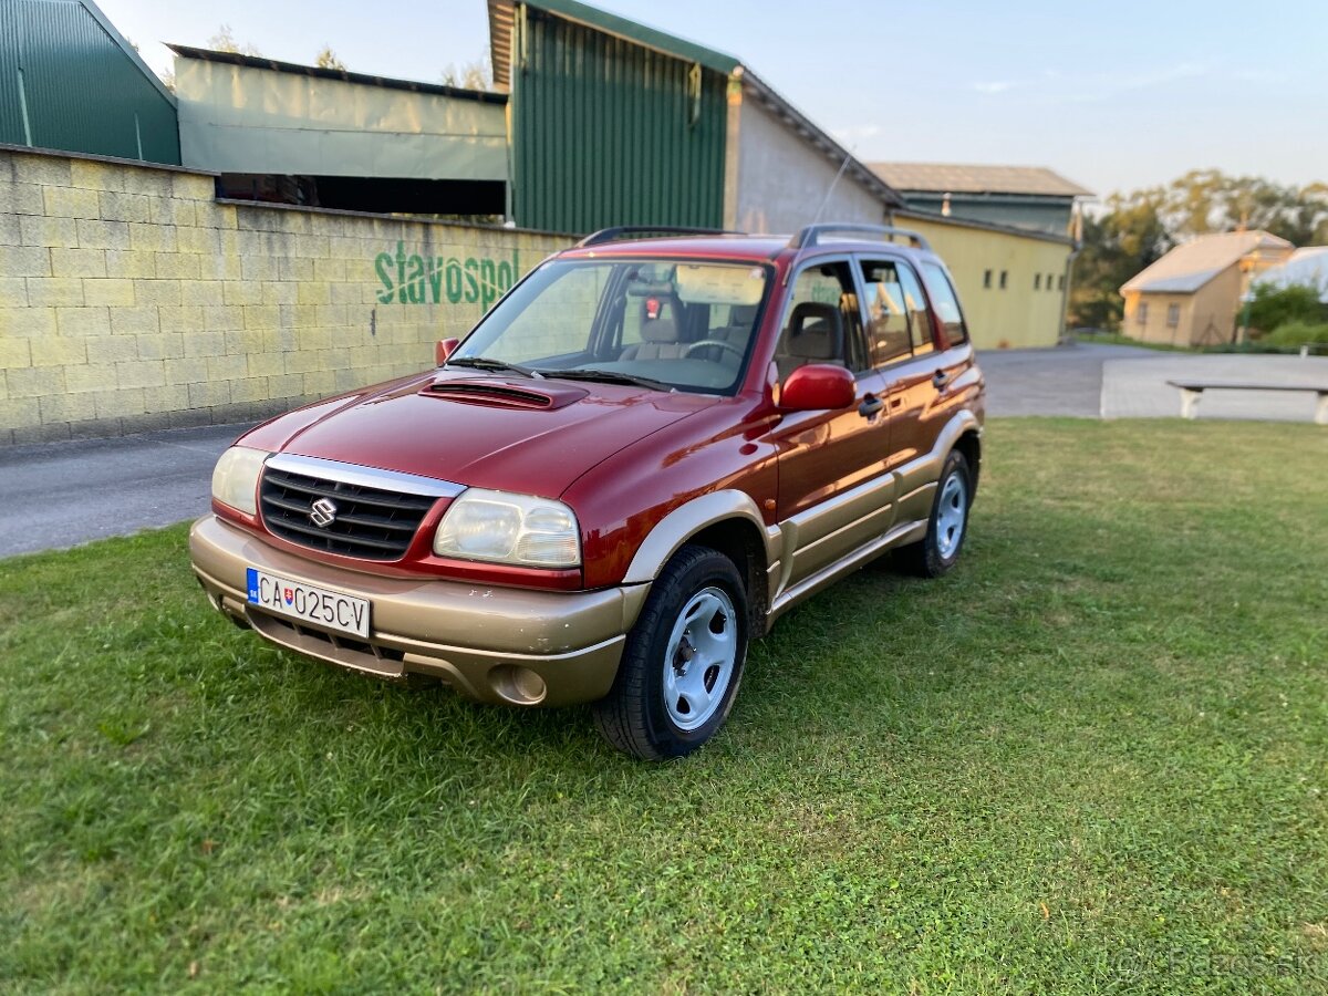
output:
[[[266,56],[437,81],[485,0],[97,0],[149,65],[224,23]],[[741,58],[863,159],[1050,166],[1106,195],[1216,167],[1328,182],[1328,7],[600,0]]]

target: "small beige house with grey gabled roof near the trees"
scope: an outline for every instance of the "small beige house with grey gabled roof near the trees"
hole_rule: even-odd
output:
[[[1121,331],[1143,343],[1230,343],[1250,282],[1291,251],[1289,242],[1266,231],[1201,235],[1177,246],[1121,287]]]

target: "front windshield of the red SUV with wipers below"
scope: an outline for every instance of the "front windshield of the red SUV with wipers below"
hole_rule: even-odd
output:
[[[551,260],[449,365],[729,394],[752,352],[769,268],[677,259]]]

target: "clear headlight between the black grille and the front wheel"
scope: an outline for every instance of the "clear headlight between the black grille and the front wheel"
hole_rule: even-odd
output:
[[[576,567],[580,530],[562,502],[473,487],[442,517],[433,552],[526,567]]]

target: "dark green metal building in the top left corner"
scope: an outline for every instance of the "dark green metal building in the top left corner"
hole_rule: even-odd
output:
[[[179,165],[175,98],[92,0],[0,3],[0,142]]]

